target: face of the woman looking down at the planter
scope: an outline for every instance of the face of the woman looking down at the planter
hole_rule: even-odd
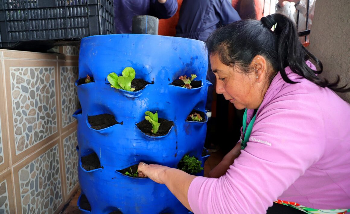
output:
[[[236,109],[256,109],[259,107],[261,93],[257,93],[256,73],[244,73],[237,66],[223,64],[217,54],[210,55],[211,69],[216,76],[216,93],[223,94]]]

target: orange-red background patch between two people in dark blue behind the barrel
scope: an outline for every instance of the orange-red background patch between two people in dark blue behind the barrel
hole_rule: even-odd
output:
[[[195,1],[195,0],[193,0]],[[158,35],[162,36],[175,36],[176,34],[176,25],[177,22],[179,22],[179,16],[180,16],[180,7],[182,4],[182,0],[177,0],[177,11],[175,15],[169,19],[160,19],[159,20],[159,27],[158,27]]]

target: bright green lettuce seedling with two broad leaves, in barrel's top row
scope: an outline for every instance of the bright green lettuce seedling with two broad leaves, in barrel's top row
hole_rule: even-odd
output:
[[[111,83],[111,87],[126,91],[134,91],[135,89],[131,88],[131,82],[135,79],[135,69],[126,67],[121,74],[122,76],[118,76],[114,72],[108,74],[107,79]]]

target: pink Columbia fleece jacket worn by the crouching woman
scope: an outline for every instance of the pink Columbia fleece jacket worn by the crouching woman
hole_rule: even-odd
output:
[[[266,213],[277,199],[316,209],[350,208],[350,105],[289,67],[286,73],[300,83],[275,76],[247,147],[226,175],[190,184],[194,213]]]

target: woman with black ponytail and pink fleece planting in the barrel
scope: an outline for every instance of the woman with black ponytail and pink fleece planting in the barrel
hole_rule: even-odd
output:
[[[145,163],[139,164],[141,176],[165,184],[194,213],[266,213],[274,201],[282,203],[277,200],[346,212],[350,105],[334,91],[350,88],[317,75],[321,62],[282,14],[232,23],[206,44],[217,93],[247,109],[241,154],[233,162],[236,152],[229,153],[222,164],[228,170],[219,178]]]

